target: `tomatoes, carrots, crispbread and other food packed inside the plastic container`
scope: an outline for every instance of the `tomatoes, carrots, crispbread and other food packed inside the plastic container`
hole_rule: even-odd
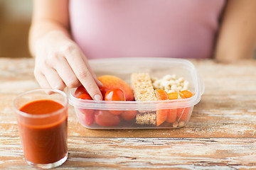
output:
[[[179,107],[179,100],[193,96],[188,90],[189,83],[175,74],[167,74],[158,79],[149,73],[131,74],[131,86],[119,77],[103,75],[98,77],[103,86],[100,91],[106,101],[104,110],[78,108],[78,116],[82,125],[113,127],[129,123],[137,126],[182,127],[188,121],[191,109]],[[74,94],[82,100],[92,100],[83,86],[78,87]],[[163,109],[167,102],[176,100],[176,107]],[[139,108],[136,111],[117,111],[111,108],[112,101],[161,101],[154,111]]]

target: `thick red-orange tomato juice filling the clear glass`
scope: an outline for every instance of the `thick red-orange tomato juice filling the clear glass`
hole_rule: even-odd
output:
[[[26,160],[51,164],[68,153],[68,109],[53,100],[26,103],[18,109],[18,125]]]

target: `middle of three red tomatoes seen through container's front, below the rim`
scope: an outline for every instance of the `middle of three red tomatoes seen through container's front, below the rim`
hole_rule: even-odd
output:
[[[118,125],[121,118],[119,115],[113,115],[109,111],[105,110],[98,110],[95,111],[95,122],[98,125],[104,126],[104,127],[112,127],[115,125]]]

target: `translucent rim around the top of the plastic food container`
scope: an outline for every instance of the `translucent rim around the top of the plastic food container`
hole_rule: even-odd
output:
[[[146,60],[149,59],[149,60]],[[189,69],[191,74],[195,75],[193,77],[193,83],[195,88],[195,95],[191,98],[182,98],[176,100],[169,101],[92,101],[92,100],[82,100],[80,98],[75,98],[73,93],[76,88],[66,89],[66,93],[68,94],[68,100],[70,105],[75,108],[85,108],[85,109],[97,109],[97,110],[119,110],[119,111],[131,111],[131,110],[144,110],[151,111],[156,108],[160,109],[169,109],[169,108],[183,108],[183,107],[191,107],[196,105],[201,100],[201,95],[203,94],[204,86],[203,81],[200,79],[196,72],[196,67],[192,64],[192,62],[185,59],[178,58],[168,58],[168,57],[132,57],[133,62],[173,62],[176,64],[181,64],[181,67]],[[90,64],[104,64],[105,62],[111,63],[120,63],[131,61],[129,57],[122,58],[108,58],[108,59],[93,59],[89,60]],[[199,81],[200,80],[200,81]],[[163,104],[164,103],[164,104]],[[159,105],[161,104],[161,105]],[[107,107],[106,107],[107,105]]]

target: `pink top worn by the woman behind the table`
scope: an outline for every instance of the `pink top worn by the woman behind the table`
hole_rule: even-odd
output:
[[[210,58],[225,0],[70,0],[88,58]]]

